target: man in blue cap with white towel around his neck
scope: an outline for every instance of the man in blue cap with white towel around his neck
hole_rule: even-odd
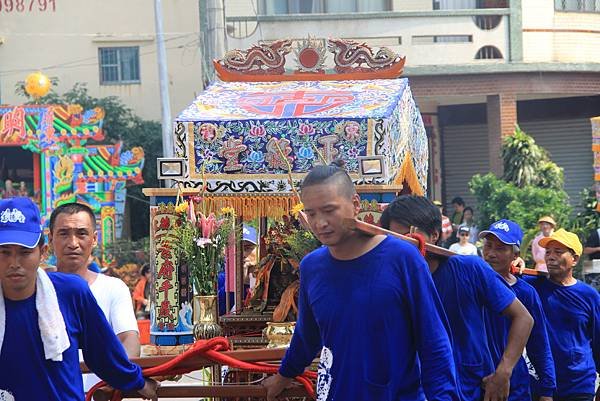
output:
[[[0,399],[82,401],[81,348],[90,369],[112,386],[156,400],[156,382],[128,360],[87,283],[39,268],[45,251],[37,206],[29,198],[1,201]],[[47,321],[49,304],[56,316]]]

